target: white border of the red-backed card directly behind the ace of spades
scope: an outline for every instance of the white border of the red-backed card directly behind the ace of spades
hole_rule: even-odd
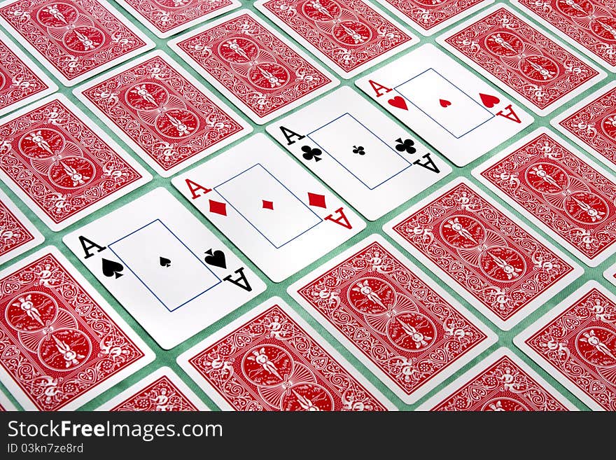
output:
[[[10,188],[10,190],[12,190],[13,193],[15,193],[15,195],[20,198],[20,200],[25,202],[25,204],[27,204],[27,206],[34,212],[34,214],[36,214],[36,216],[38,216],[38,218],[40,218],[41,221],[43,221],[43,223],[45,223],[45,225],[47,225],[53,232],[59,232],[59,230],[63,230],[64,228],[68,227],[69,225],[72,225],[73,223],[76,223],[85,216],[92,214],[94,211],[97,211],[98,209],[101,209],[107,204],[118,200],[118,198],[127,195],[127,193],[130,193],[133,190],[137,190],[137,188],[145,185],[152,180],[152,174],[147,172],[144,167],[139,165],[139,163],[135,161],[134,158],[132,158],[132,156],[127,153],[124,148],[121,148],[116,143],[116,141],[113,141],[113,139],[111,139],[111,137],[109,137],[106,132],[104,132],[100,127],[98,127],[98,125],[96,125],[96,123],[92,123],[92,120],[90,120],[90,118],[85,115],[85,113],[83,113],[83,111],[81,111],[78,106],[73,104],[73,102],[70,102],[69,99],[61,93],[50,95],[39,100],[36,104],[31,104],[22,108],[21,110],[11,113],[10,116],[2,118],[2,120],[0,120],[0,125],[10,123],[10,121],[15,120],[15,118],[20,118],[20,116],[34,111],[39,107],[48,104],[48,102],[54,101],[55,99],[58,99],[59,102],[66,106],[67,109],[70,109],[70,111],[73,112],[73,114],[81,121],[81,123],[87,125],[87,127],[89,127],[92,132],[97,134],[97,136],[102,139],[105,144],[107,144],[110,148],[113,149],[113,151],[120,155],[123,160],[128,163],[128,165],[130,165],[132,168],[135,169],[135,171],[141,174],[141,179],[134,181],[134,183],[125,186],[124,188],[120,188],[119,190],[116,190],[115,192],[111,193],[111,195],[107,195],[102,200],[99,200],[96,203],[90,204],[89,207],[81,209],[76,214],[73,214],[73,216],[64,219],[64,221],[60,223],[55,223],[51,220],[49,216],[47,216],[47,214],[45,214],[45,211],[43,211],[43,209],[41,209],[41,207],[39,207],[38,204],[36,204],[36,202],[34,202],[34,200],[29,197],[27,193],[21,190],[21,188],[15,183],[15,181],[13,181],[10,176],[5,174],[5,172],[0,169],[0,179],[6,184],[6,186]]]

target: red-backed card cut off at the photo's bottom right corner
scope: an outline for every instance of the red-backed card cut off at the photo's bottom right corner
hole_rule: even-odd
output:
[[[588,281],[513,342],[592,410],[616,410],[616,297]]]

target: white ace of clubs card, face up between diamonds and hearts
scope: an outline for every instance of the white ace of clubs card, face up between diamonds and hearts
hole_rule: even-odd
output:
[[[451,172],[414,134],[348,87],[267,132],[370,221]]]

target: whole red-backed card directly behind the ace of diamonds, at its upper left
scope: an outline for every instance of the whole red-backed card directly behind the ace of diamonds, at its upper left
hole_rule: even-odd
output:
[[[162,51],[73,90],[163,177],[252,131],[241,117]]]

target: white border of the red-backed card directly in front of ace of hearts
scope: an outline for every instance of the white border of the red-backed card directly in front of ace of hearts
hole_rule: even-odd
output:
[[[507,148],[503,149],[503,151],[500,151],[500,153],[497,153],[496,155],[489,158],[489,160],[487,160],[486,162],[483,162],[481,165],[477,165],[475,168],[472,169],[470,174],[472,174],[472,176],[475,179],[477,179],[477,181],[479,181],[483,186],[486,186],[486,188],[489,188],[489,190],[492,193],[494,193],[497,197],[499,197],[500,200],[503,200],[503,202],[507,203],[508,207],[514,209],[515,211],[519,212],[519,214],[526,217],[537,228],[540,228],[540,230],[542,230],[547,235],[552,237],[554,240],[559,242],[565,249],[567,249],[570,253],[573,253],[583,263],[585,263],[589,267],[596,267],[597,265],[603,263],[603,261],[610,258],[612,254],[616,252],[616,240],[615,242],[612,242],[610,246],[605,247],[605,249],[603,249],[603,251],[599,253],[598,256],[596,256],[594,259],[588,258],[588,256],[584,255],[582,251],[580,251],[575,246],[573,246],[573,244],[571,244],[566,239],[561,237],[561,235],[559,235],[558,233],[554,232],[554,230],[549,228],[549,226],[547,226],[543,221],[541,221],[540,218],[531,214],[530,211],[528,211],[526,208],[522,207],[520,204],[512,200],[511,197],[505,195],[505,193],[503,193],[503,191],[500,190],[500,188],[496,187],[490,181],[484,179],[484,177],[481,175],[481,173],[484,172],[487,168],[492,167],[500,160],[503,160],[503,158],[510,155],[513,151],[516,151],[517,149],[521,148],[521,146],[524,146],[524,144],[528,143],[532,139],[535,139],[535,137],[538,137],[540,134],[546,134],[547,136],[554,139],[554,141],[561,144],[564,148],[570,151],[570,153],[572,153],[574,156],[579,158],[582,162],[586,163],[589,167],[596,169],[596,172],[605,176],[606,179],[612,181],[612,183],[616,185],[615,176],[605,171],[605,169],[597,165],[596,162],[589,160],[589,158],[587,158],[586,155],[581,155],[578,152],[580,149],[575,148],[574,146],[570,145],[567,141],[562,139],[560,136],[556,135],[554,132],[552,132],[552,130],[549,130],[547,127],[538,127],[533,132],[519,139],[519,141],[514,142]]]

